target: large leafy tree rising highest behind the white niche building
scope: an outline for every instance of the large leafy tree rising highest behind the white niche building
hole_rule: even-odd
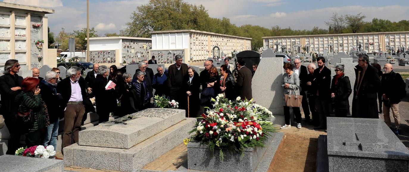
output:
[[[209,14],[202,5],[196,6],[183,0],[149,0],[136,8],[131,22],[121,34],[149,37],[149,31],[197,29],[208,31]]]

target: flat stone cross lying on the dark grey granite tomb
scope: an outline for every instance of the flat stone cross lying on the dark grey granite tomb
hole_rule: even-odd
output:
[[[362,151],[375,151],[377,148],[388,148],[387,143],[373,133],[355,133],[355,136],[356,141],[345,141],[345,146],[358,146],[358,149]]]

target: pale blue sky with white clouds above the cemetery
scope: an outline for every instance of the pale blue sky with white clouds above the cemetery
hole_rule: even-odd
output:
[[[373,18],[391,21],[409,20],[408,0],[185,0],[192,4],[203,4],[211,17],[230,18],[237,26],[244,24],[271,28],[280,26],[293,29],[327,28],[333,12],[357,14],[362,12],[370,21]],[[72,32],[86,27],[86,0],[3,0],[51,8],[47,14],[50,30]],[[90,27],[98,34],[119,33],[130,22],[129,16],[137,6],[148,0],[90,0]]]

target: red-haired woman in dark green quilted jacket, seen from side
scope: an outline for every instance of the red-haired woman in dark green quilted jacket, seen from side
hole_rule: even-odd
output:
[[[19,104],[16,114],[16,124],[26,129],[25,143],[27,147],[41,145],[41,138],[49,125],[47,107],[41,99],[40,80],[27,77],[21,83],[22,92],[16,96],[16,104]]]

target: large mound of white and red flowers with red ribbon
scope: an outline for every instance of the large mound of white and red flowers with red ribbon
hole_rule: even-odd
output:
[[[265,147],[267,136],[279,130],[269,121],[272,112],[252,102],[253,99],[240,99],[230,101],[223,94],[212,98],[213,108],[205,107],[206,114],[199,117],[203,119],[189,132],[194,133],[191,140],[207,145],[211,152],[220,149],[220,161],[224,160],[224,150],[244,156],[247,147]]]

